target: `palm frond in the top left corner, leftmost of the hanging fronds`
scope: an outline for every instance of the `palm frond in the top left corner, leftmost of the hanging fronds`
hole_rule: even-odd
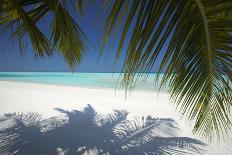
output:
[[[14,35],[16,35],[21,44],[21,41],[23,40],[21,29],[23,27],[31,40],[35,55],[51,55],[49,40],[30,18],[29,14],[24,9],[24,5],[20,1],[3,0],[1,11],[0,24],[3,27],[1,28],[1,31],[7,31],[8,28],[15,25],[17,33]],[[22,48],[22,45],[20,45],[20,47],[20,50],[23,51],[24,49]]]

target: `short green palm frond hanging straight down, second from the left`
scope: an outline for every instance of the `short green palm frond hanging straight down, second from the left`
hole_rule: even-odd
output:
[[[53,3],[51,4],[54,13],[51,40],[54,48],[64,56],[69,66],[73,68],[80,63],[83,51],[86,50],[84,43],[86,38],[64,6],[57,0],[54,0]]]

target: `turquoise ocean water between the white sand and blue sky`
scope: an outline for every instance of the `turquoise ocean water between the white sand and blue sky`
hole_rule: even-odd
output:
[[[157,91],[155,76],[149,74],[145,82],[139,80],[135,89]],[[108,89],[118,89],[121,84],[120,73],[0,72],[0,80]]]

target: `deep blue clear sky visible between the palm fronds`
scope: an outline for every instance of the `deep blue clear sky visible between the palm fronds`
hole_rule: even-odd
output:
[[[88,50],[82,58],[82,62],[75,68],[79,72],[120,72],[122,68],[123,58],[119,59],[119,63],[114,68],[114,56],[116,47],[106,48],[104,54],[98,61],[99,48],[97,41],[99,40],[102,30],[102,21],[106,16],[99,15],[100,4],[90,5],[83,10],[83,15],[73,15],[74,19],[80,25],[83,32],[88,38]],[[44,17],[38,26],[45,34],[49,34],[49,26],[47,23],[51,20],[50,16]],[[127,44],[127,43],[126,43]],[[124,50],[125,51],[125,50]],[[19,52],[18,42],[13,41],[8,34],[0,35],[0,71],[46,71],[46,72],[64,72],[71,71],[61,55],[55,53],[52,57],[35,58],[30,42],[27,44],[27,50],[22,56]]]

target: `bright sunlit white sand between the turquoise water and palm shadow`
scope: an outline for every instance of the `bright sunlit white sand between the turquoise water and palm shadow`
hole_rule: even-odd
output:
[[[59,115],[55,108],[82,110],[91,105],[97,112],[126,110],[128,117],[152,116],[172,118],[183,137],[194,137],[191,127],[181,120],[167,93],[135,91],[125,99],[123,91],[80,88],[23,82],[0,81],[0,115],[12,112],[37,112],[44,118]],[[196,138],[196,137],[194,137]],[[231,141],[210,146],[204,154],[232,154]]]

